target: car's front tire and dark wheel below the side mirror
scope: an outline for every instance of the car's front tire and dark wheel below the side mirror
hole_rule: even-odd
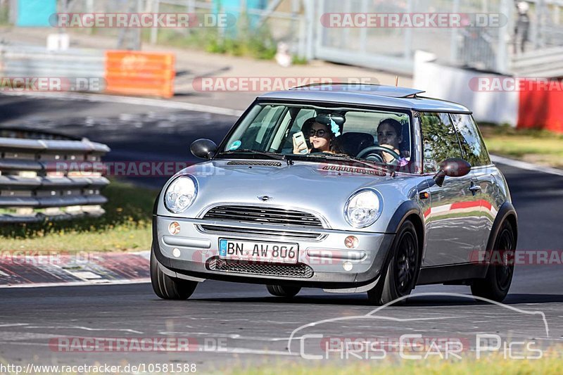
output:
[[[385,305],[410,294],[420,267],[419,251],[415,224],[407,220],[397,231],[385,272],[381,273],[376,286],[367,291],[369,303]]]

